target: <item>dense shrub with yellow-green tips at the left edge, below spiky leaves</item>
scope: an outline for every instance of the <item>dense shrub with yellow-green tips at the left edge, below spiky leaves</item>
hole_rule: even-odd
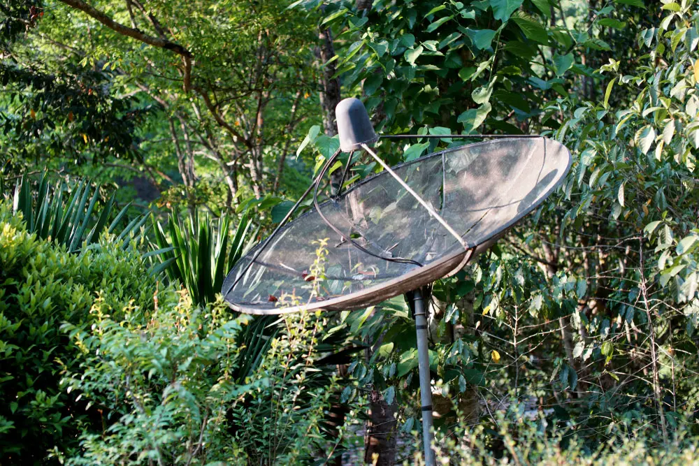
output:
[[[65,321],[89,326],[100,291],[119,315],[152,307],[155,281],[133,248],[103,237],[83,254],[29,233],[22,215],[0,202],[0,461],[41,463],[55,446],[70,451],[78,427],[100,425],[94,409],[59,389],[77,351]]]

